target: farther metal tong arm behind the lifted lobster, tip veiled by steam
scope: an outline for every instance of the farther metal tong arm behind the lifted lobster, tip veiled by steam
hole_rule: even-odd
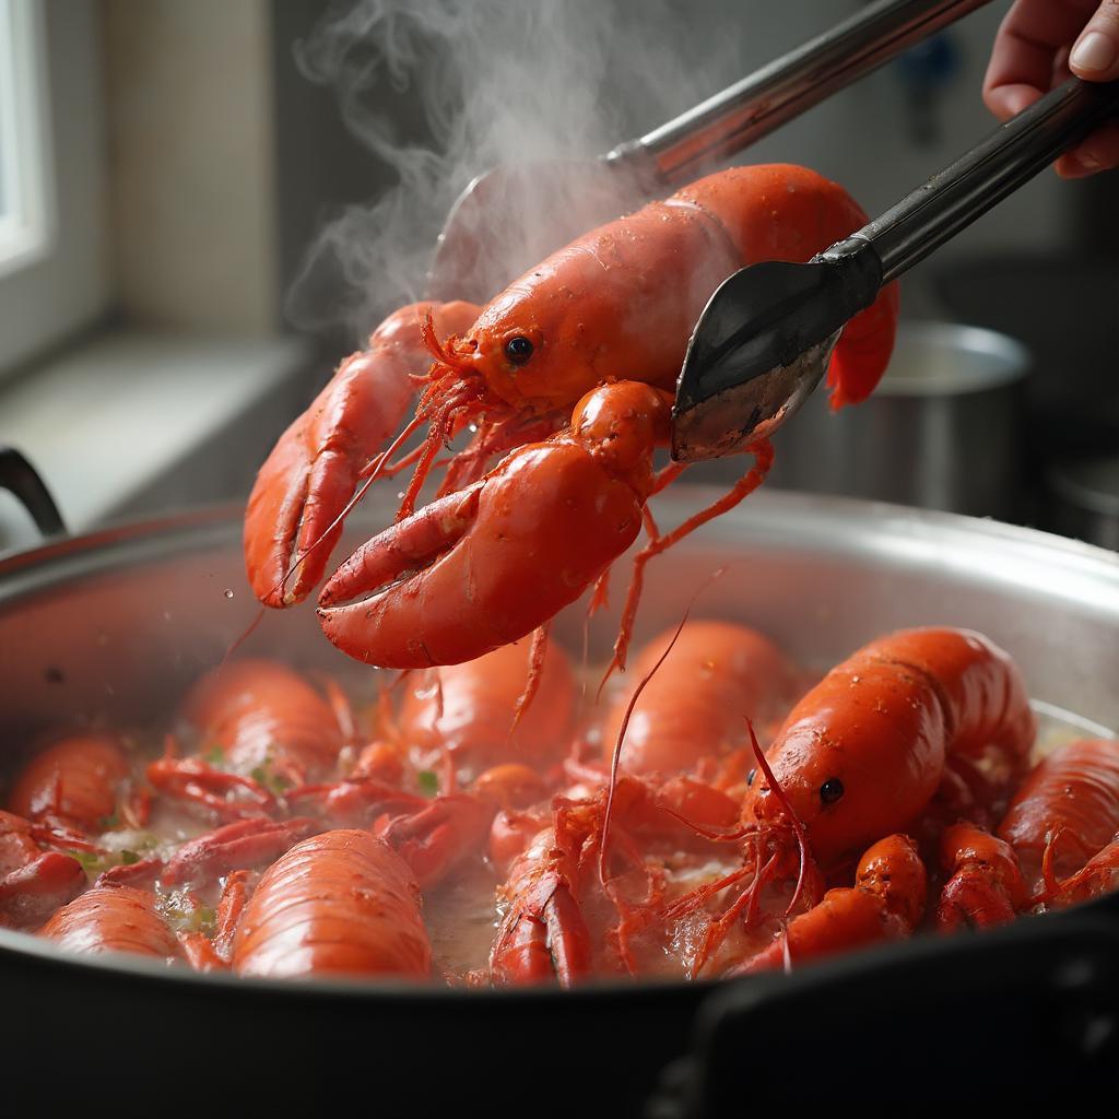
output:
[[[877,0],[605,156],[492,168],[451,208],[427,276],[429,298],[486,302],[584,231],[697,178],[989,2]]]

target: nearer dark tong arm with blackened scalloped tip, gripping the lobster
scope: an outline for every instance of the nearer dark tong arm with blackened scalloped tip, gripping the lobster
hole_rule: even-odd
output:
[[[673,458],[732,454],[819,383],[844,325],[1119,109],[1119,82],[1065,82],[807,264],[741,269],[712,295],[676,385]]]

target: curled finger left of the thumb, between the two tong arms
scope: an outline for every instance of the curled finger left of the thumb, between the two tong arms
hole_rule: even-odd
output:
[[[995,37],[984,78],[984,103],[999,120],[1022,112],[1051,87],[1059,51],[1076,39],[1098,7],[1099,0],[1015,0]],[[1119,2],[1108,0],[1102,7],[1116,17],[1111,27],[1119,41]]]

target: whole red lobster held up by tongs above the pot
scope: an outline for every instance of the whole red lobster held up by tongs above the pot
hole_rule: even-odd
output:
[[[414,462],[396,524],[322,590],[331,641],[383,667],[474,659],[546,624],[643,526],[650,540],[615,646],[624,667],[645,564],[741,501],[772,457],[764,441],[752,444],[754,464],[730,492],[659,534],[647,502],[684,468],[655,470],[653,451],[668,441],[671,389],[699,312],[743,265],[806,261],[864,222],[846,191],[805,168],[733,168],[587,233],[483,308],[395,312],[261,470],[245,520],[257,596],[284,606],[309,594],[358,481]],[[835,406],[874,388],[896,317],[891,285],[848,323],[828,375]],[[425,387],[415,417],[383,450],[416,382]],[[389,463],[423,425],[422,445]],[[467,425],[473,438],[416,510],[439,449]]]

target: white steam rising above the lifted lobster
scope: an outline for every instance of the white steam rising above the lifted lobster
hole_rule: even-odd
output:
[[[743,73],[717,0],[357,0],[297,47],[337,92],[348,129],[394,179],[338,214],[288,301],[304,329],[339,321],[360,341],[420,298],[459,192],[497,163],[600,154]],[[725,18],[725,17],[724,17]],[[505,203],[505,200],[501,200]],[[513,228],[539,220],[520,200]],[[593,224],[593,223],[592,223]]]

